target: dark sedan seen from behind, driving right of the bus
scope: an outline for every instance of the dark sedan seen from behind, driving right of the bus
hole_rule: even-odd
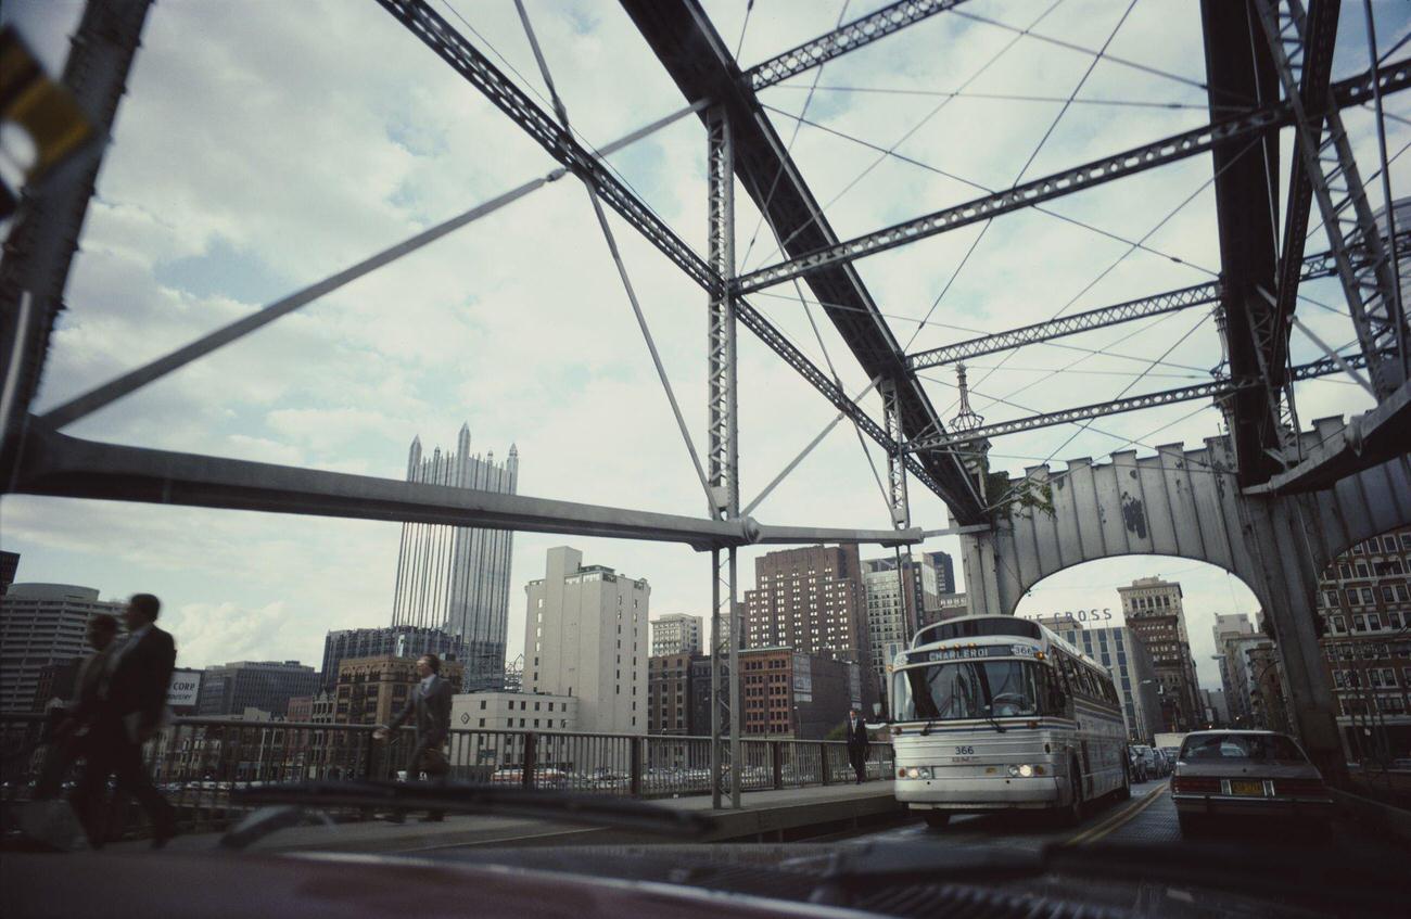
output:
[[[1287,818],[1326,827],[1333,798],[1292,737],[1268,730],[1202,730],[1187,736],[1171,779],[1182,836],[1221,818]]]

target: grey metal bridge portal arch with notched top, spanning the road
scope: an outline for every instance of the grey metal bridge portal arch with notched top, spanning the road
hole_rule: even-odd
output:
[[[1342,419],[1315,421],[1305,450],[1338,436]],[[1197,450],[1070,460],[1024,478],[1044,506],[1012,505],[985,533],[961,537],[972,612],[1012,615],[1043,578],[1084,561],[1160,554],[1205,561],[1240,578],[1270,616],[1288,675],[1291,708],[1309,753],[1343,772],[1332,689],[1315,633],[1318,579],[1346,547],[1411,524],[1411,458],[1401,454],[1302,495],[1246,496],[1228,437]],[[1015,479],[1012,486],[1023,485]]]

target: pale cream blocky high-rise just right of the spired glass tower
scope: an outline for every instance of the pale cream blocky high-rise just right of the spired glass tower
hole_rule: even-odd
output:
[[[580,730],[645,734],[650,593],[645,579],[550,548],[545,576],[525,586],[525,692],[577,698]]]

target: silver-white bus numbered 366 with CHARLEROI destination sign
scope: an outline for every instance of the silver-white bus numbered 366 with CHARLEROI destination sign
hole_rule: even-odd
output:
[[[1112,675],[1036,622],[964,616],[917,631],[892,665],[896,796],[931,826],[1043,809],[1067,823],[1130,795]]]

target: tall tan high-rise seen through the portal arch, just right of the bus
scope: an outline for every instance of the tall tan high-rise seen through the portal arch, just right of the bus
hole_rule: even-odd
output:
[[[1127,627],[1146,644],[1161,681],[1164,730],[1192,730],[1201,720],[1199,685],[1185,629],[1181,585],[1161,578],[1137,578],[1118,588]]]

